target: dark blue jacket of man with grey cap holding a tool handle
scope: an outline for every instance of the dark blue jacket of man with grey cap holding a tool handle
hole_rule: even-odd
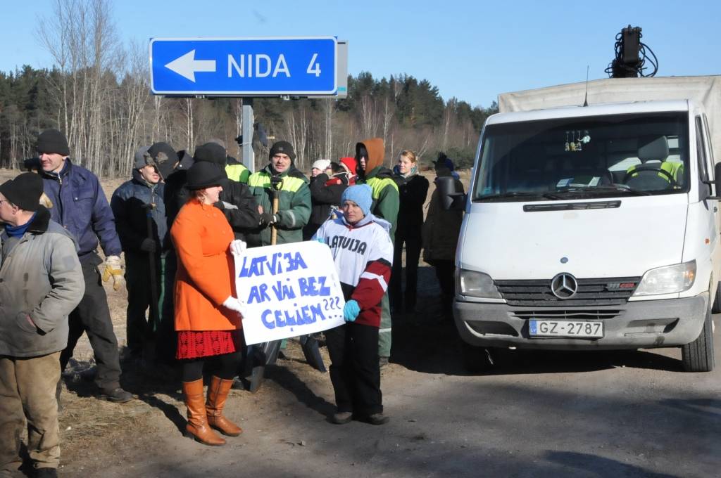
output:
[[[158,253],[165,243],[168,224],[165,219],[165,203],[163,195],[165,185],[154,184],[152,187],[143,181],[137,169],[133,170],[133,179],[121,184],[110,198],[110,209],[115,215],[115,229],[118,230],[123,251],[140,252],[143,239],[151,238],[158,244]],[[155,204],[151,209],[151,227],[148,230],[148,209],[145,204]]]

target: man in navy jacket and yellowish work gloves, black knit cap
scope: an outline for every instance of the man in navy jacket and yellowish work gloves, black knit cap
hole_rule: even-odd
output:
[[[45,130],[37,137],[43,189],[53,203],[50,217],[65,227],[78,243],[78,257],[85,279],[85,294],[69,317],[68,346],[61,353],[61,369],[65,369],[75,345],[86,332],[97,364],[95,383],[99,398],[111,402],[128,402],[133,398],[120,387],[120,357],[118,339],[112,329],[107,295],[101,284],[112,279],[113,289],[123,287],[123,268],[120,266],[122,247],[115,232],[115,218],[91,171],[71,163],[70,148],[63,133]],[[97,246],[105,253],[103,264]]]

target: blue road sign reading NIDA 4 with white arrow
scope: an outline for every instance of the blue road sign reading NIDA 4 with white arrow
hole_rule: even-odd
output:
[[[329,95],[336,68],[335,37],[150,40],[154,94]]]

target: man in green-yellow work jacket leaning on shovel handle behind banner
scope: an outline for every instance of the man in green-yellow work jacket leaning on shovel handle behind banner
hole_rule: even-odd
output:
[[[278,244],[303,240],[303,227],[311,215],[311,192],[308,179],[296,175],[293,166],[296,152],[288,141],[278,141],[270,148],[270,163],[248,179],[248,186],[262,209],[260,224],[247,238],[248,246],[270,245],[271,231],[278,231]],[[273,197],[278,196],[278,210]]]

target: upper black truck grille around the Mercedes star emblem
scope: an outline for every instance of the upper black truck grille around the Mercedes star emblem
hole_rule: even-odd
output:
[[[576,279],[578,289],[572,297],[559,299],[551,292],[550,279],[495,281],[508,305],[522,307],[574,307],[624,305],[638,286],[640,277],[604,277]]]

